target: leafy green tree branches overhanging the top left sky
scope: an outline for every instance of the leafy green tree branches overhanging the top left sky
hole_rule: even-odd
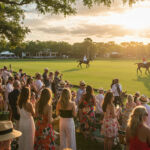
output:
[[[135,3],[138,0],[122,0],[123,3]],[[113,0],[82,0],[89,8],[94,4],[110,6]],[[76,13],[77,0],[0,0],[0,41],[10,41],[12,45],[21,43],[30,31],[24,27],[24,5],[34,5],[40,13],[70,15]]]

